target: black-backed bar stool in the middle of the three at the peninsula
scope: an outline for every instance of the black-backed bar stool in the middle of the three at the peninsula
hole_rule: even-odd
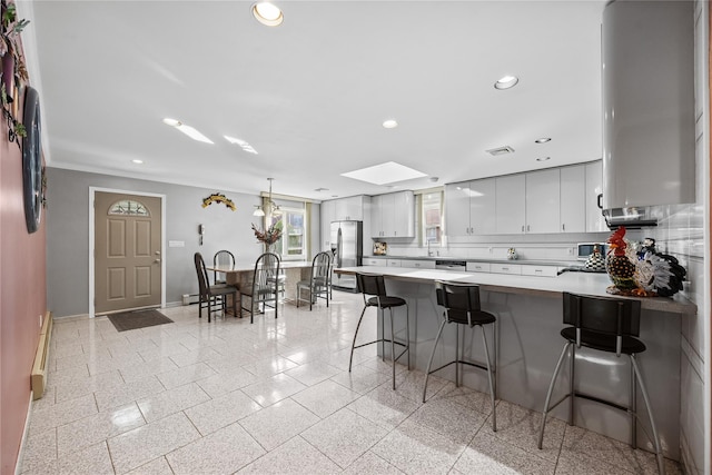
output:
[[[495,377],[494,374],[497,367],[497,343],[496,343],[496,326],[493,325],[493,349],[494,349],[494,365],[490,360],[490,346],[487,345],[487,337],[485,336],[485,325],[494,324],[497,321],[494,315],[483,311],[479,307],[479,286],[472,284],[448,283],[443,280],[435,281],[435,294],[437,297],[437,305],[445,307],[443,313],[443,323],[437,330],[435,337],[435,345],[433,345],[433,352],[431,353],[431,359],[427,362],[427,369],[425,372],[425,384],[423,385],[423,402],[425,403],[425,393],[427,390],[427,379],[431,374],[438,372],[449,365],[455,365],[455,385],[459,387],[462,379],[462,365],[474,366],[487,372],[487,379],[490,382],[490,397],[492,399],[492,431],[497,431],[497,416],[495,412],[495,399],[497,397]],[[446,324],[455,325],[455,359],[446,363],[445,365],[431,369],[433,366],[433,358],[435,357],[435,350],[437,348],[437,342],[439,342],[443,335],[443,328]],[[464,348],[459,348],[459,326],[467,325],[471,328],[479,327],[482,329],[482,344],[485,349],[485,364],[466,362],[464,360]],[[464,335],[463,335],[464,336]],[[464,343],[463,343],[464,346]]]

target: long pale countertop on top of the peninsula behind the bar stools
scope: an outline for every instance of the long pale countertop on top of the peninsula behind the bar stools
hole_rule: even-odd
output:
[[[564,291],[584,294],[599,297],[612,297],[605,291],[611,285],[607,274],[565,273],[557,277],[533,277],[510,274],[462,273],[439,269],[407,269],[403,267],[362,266],[335,268],[336,274],[354,275],[357,271],[382,274],[386,277],[414,281],[432,283],[433,280],[453,280],[477,284],[482,290],[504,294],[524,294],[541,297],[561,297]],[[673,314],[691,314],[698,311],[698,306],[676,294],[668,297],[622,297],[641,300],[641,307],[647,310],[669,311]]]

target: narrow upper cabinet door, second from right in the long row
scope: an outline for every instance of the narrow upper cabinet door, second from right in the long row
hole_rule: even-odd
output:
[[[561,170],[561,232],[586,231],[586,166]]]

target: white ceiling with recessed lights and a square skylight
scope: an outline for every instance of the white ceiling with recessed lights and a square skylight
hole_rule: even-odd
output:
[[[330,199],[601,158],[604,0],[276,3],[268,28],[246,1],[20,0],[49,166]],[[392,160],[428,177],[340,176]]]

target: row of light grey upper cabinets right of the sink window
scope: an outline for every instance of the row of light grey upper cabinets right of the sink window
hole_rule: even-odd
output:
[[[452,243],[479,235],[605,231],[601,160],[445,186]]]

